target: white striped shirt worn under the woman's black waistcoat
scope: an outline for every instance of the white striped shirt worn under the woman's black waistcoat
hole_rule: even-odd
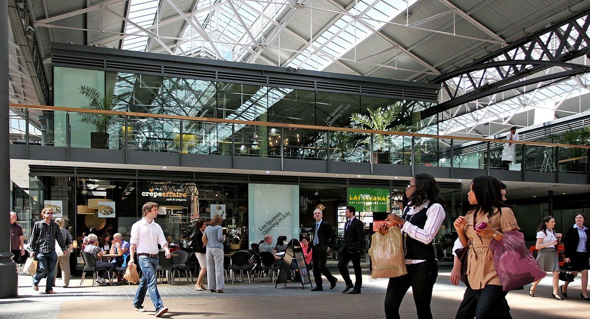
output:
[[[410,219],[409,216],[417,214],[422,208],[427,207],[429,202],[430,201],[426,201],[418,207],[410,206],[408,208],[408,219]],[[409,205],[411,205],[411,203]],[[441,229],[442,221],[444,221],[446,214],[441,204],[432,204],[426,211],[426,216],[428,219],[426,220],[424,229],[418,228],[418,226],[412,225],[411,222],[406,221],[404,226],[402,226],[402,231],[407,232],[409,237],[428,245],[434,240],[434,237],[436,237],[438,231]],[[424,260],[407,259],[405,260],[405,264],[418,264],[423,261]]]

